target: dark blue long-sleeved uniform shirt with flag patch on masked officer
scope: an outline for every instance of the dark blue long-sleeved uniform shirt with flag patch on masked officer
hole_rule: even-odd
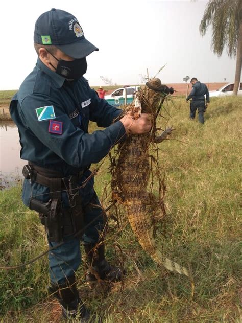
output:
[[[112,124],[120,112],[98,98],[84,77],[67,81],[39,58],[10,104],[19,129],[21,159],[60,171],[63,177],[98,163],[125,136],[122,122]],[[107,128],[88,134],[89,120]],[[86,193],[92,186],[90,181]],[[32,194],[46,201],[47,192],[48,188],[37,183],[31,192],[29,180],[25,180],[23,202],[28,205]]]

